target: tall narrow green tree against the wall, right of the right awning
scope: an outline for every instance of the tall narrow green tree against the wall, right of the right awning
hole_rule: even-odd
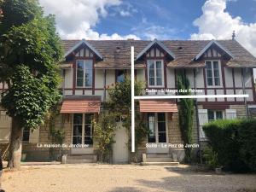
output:
[[[179,93],[179,95],[189,96],[189,80],[183,72],[177,74],[177,89],[187,90]],[[192,143],[193,131],[193,115],[194,115],[194,101],[193,99],[180,99],[180,108],[178,110],[179,126],[182,133],[183,144]],[[191,161],[191,148],[185,148],[185,161]]]

